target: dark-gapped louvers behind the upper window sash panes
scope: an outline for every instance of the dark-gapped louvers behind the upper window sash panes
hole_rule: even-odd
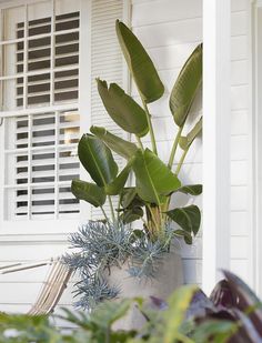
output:
[[[64,69],[54,72],[54,103],[78,99],[79,63],[79,12],[56,17],[54,31],[54,68]],[[70,31],[67,33],[67,31]],[[38,38],[39,34],[51,34],[51,18],[29,21],[28,36],[36,37],[28,42],[27,70],[38,71],[28,78],[28,105],[50,103],[51,37]],[[18,23],[17,38],[24,37],[24,23]],[[17,72],[23,72],[23,42],[18,43]],[[43,72],[43,73],[42,73]],[[23,105],[23,78],[18,79],[17,107]]]

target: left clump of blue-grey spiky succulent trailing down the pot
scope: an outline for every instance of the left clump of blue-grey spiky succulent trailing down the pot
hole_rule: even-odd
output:
[[[92,309],[105,299],[115,297],[119,286],[110,286],[103,271],[117,263],[124,263],[129,256],[132,232],[122,223],[89,221],[69,238],[77,252],[63,256],[72,270],[78,271],[80,281],[75,283],[75,305]]]

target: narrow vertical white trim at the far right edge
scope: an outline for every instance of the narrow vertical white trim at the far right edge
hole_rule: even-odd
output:
[[[252,209],[251,214],[251,258],[252,258],[252,281],[256,293],[262,295],[262,102],[259,101],[261,98],[262,79],[259,80],[258,71],[262,70],[262,63],[259,60],[259,30],[262,33],[262,23],[259,22],[259,11],[262,13],[262,0],[251,0],[251,14],[250,14],[250,60],[251,60],[251,145],[252,155],[250,162],[252,165],[251,170],[251,186],[252,186]],[[262,34],[260,34],[262,37]],[[260,37],[260,38],[261,38]],[[261,44],[262,51],[262,44]],[[260,103],[259,103],[260,102]]]

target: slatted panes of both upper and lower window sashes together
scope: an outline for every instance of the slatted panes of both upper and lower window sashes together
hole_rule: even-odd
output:
[[[16,89],[4,110],[17,112],[4,122],[10,134],[4,149],[7,220],[72,219],[80,211],[70,190],[80,169],[80,12],[78,6],[64,10],[63,1],[50,2],[52,12],[58,2],[62,13],[33,20],[26,16],[16,23],[14,83],[3,83],[6,93],[10,85]]]

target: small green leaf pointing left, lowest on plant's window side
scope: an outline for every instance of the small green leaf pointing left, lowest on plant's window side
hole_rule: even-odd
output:
[[[77,199],[84,200],[95,208],[102,206],[107,199],[102,188],[82,180],[72,180],[71,191]]]

